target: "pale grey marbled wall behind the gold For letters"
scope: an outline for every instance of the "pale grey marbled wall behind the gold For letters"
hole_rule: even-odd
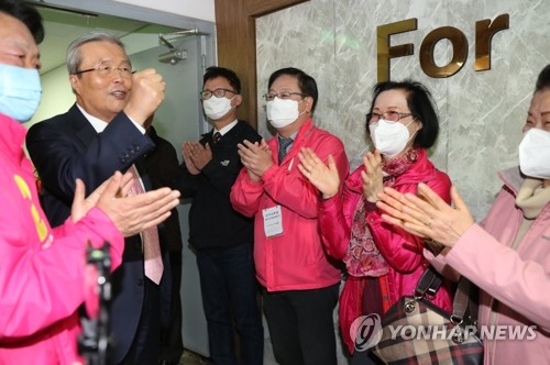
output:
[[[530,7],[530,8],[529,8]],[[492,68],[474,70],[475,22],[509,14],[509,29],[492,42]],[[356,167],[367,142],[364,119],[376,81],[376,26],[417,18],[418,30],[391,37],[413,43],[413,56],[392,60],[392,79],[415,78],[432,91],[441,134],[432,161],[448,172],[477,219],[501,187],[498,169],[517,164],[529,99],[538,71],[550,63],[550,2],[520,0],[311,0],[256,21],[258,130],[268,135],[260,96],[267,78],[295,66],[319,86],[318,125],[339,135]],[[464,67],[449,78],[431,78],[420,68],[424,37],[440,26],[463,32],[469,43]],[[447,41],[436,46],[436,62],[448,63]]]

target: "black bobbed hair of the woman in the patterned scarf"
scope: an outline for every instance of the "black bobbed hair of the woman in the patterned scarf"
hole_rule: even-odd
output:
[[[373,88],[373,100],[369,113],[372,113],[374,102],[382,92],[395,89],[405,91],[410,113],[422,123],[422,129],[418,131],[413,143],[414,146],[421,148],[431,147],[438,139],[439,119],[431,93],[422,84],[410,79],[376,84]],[[366,121],[366,130],[369,132],[369,120]]]

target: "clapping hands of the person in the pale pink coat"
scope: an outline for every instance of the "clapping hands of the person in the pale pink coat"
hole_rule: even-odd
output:
[[[384,188],[376,206],[385,211],[382,218],[407,232],[452,247],[464,232],[474,224],[474,219],[457,189],[451,187],[449,206],[426,184],[418,185],[418,197],[403,195]]]

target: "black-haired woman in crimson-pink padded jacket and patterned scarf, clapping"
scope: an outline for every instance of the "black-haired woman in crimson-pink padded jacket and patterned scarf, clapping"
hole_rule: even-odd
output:
[[[343,259],[348,269],[339,312],[342,336],[351,353],[358,349],[358,339],[350,334],[352,322],[365,314],[382,317],[402,296],[413,295],[428,266],[422,256],[424,240],[384,222],[375,206],[377,195],[389,186],[415,193],[418,184],[426,182],[449,201],[451,187],[449,177],[427,157],[439,122],[430,93],[421,84],[377,84],[366,123],[376,150],[369,152],[364,164],[348,177],[342,199],[333,159],[329,158],[326,166],[305,148],[298,166],[322,192],[319,226],[327,251]],[[447,285],[438,290],[433,302],[451,308]],[[378,362],[369,352],[354,357],[362,357],[362,363]]]

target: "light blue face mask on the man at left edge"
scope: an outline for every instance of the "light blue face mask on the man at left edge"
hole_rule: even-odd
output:
[[[37,69],[0,64],[0,113],[28,122],[38,109],[41,96]]]

